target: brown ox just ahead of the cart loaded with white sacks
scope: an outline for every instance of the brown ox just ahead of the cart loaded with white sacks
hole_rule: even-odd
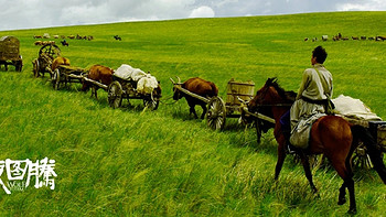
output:
[[[112,74],[114,70],[109,67],[103,65],[94,65],[89,68],[87,78],[108,86],[112,83]],[[93,95],[95,95],[95,98],[98,98],[97,91],[99,87],[96,85],[92,85],[90,83],[84,82],[82,90],[87,91],[90,87],[93,88],[92,97]]]

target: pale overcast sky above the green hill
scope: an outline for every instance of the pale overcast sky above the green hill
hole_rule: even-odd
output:
[[[0,31],[126,21],[385,11],[386,0],[0,0]]]

